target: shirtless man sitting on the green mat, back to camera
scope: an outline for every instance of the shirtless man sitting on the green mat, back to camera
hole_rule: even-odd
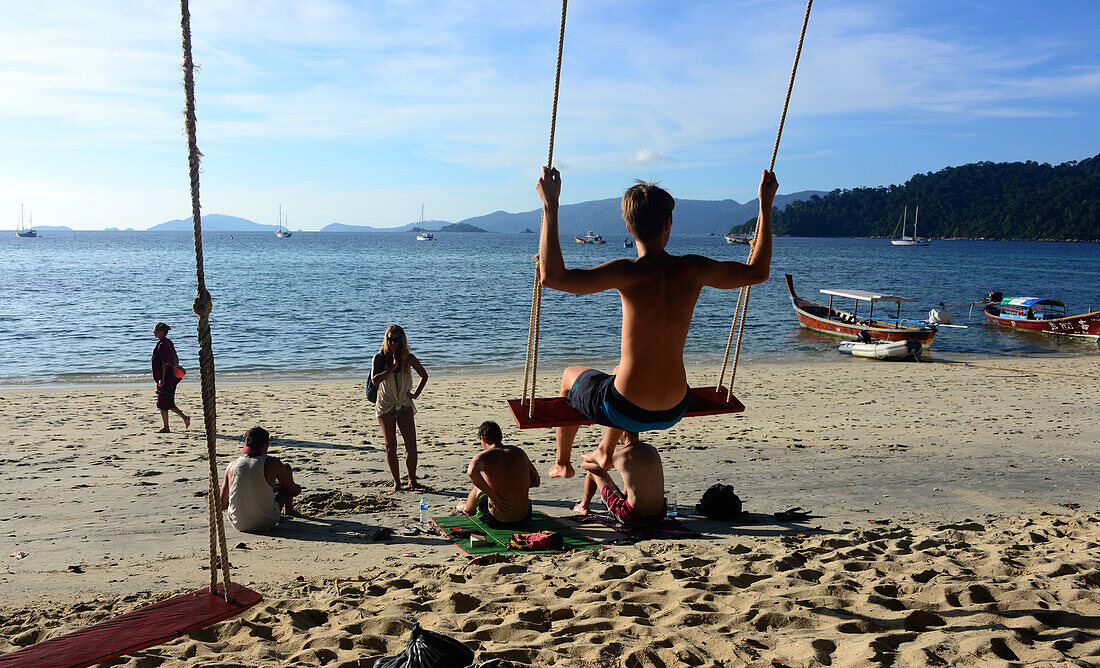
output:
[[[482,451],[471,461],[466,474],[474,489],[455,510],[473,515],[493,527],[512,527],[531,518],[528,492],[541,484],[539,472],[516,446],[505,446],[501,426],[484,421],[477,428]]]

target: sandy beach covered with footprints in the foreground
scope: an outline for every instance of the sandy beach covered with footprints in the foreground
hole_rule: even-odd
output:
[[[540,394],[557,382],[541,374]],[[549,468],[552,432],[507,413],[520,385],[430,379],[417,430],[433,515],[469,491],[482,420]],[[743,362],[744,414],[647,435],[702,538],[618,546],[583,525],[605,549],[475,565],[415,524],[419,492],[386,491],[360,381],[221,383],[219,469],[266,427],[306,516],[266,536],[227,527],[234,580],[263,603],[112,665],[371,666],[420,622],[479,660],[532,666],[1096,666],[1098,386],[1094,355]],[[173,417],[160,435],[152,383],[0,391],[0,651],[208,583],[197,379],[177,401],[191,429]],[[582,429],[574,461],[597,438]],[[716,482],[746,523],[694,514]],[[568,518],[580,486],[544,480],[536,507]],[[772,517],[792,506],[812,517]]]

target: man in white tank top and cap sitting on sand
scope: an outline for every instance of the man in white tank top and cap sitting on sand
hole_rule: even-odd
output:
[[[294,497],[301,488],[290,464],[267,455],[271,435],[253,427],[244,435],[243,457],[226,468],[221,510],[239,532],[261,533],[275,527],[283,515],[295,515]]]

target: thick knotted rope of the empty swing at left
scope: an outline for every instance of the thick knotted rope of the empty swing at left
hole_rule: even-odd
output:
[[[210,338],[210,311],[213,308],[210,293],[206,288],[206,273],[202,269],[202,218],[199,205],[199,152],[196,139],[195,116],[195,62],[191,58],[191,14],[188,0],[180,0],[180,28],[184,47],[184,92],[187,108],[184,124],[187,129],[187,164],[191,182],[191,220],[195,223],[195,278],[197,291],[191,310],[198,316],[199,373],[202,385],[202,426],[207,437],[207,461],[210,464],[210,484],[207,490],[207,511],[210,526],[210,594],[216,595],[218,569],[221,568],[226,584],[226,601],[233,602],[233,587],[229,578],[229,549],[226,547],[226,526],[221,517],[221,485],[218,481],[218,416],[213,374],[213,343]],[[220,551],[219,551],[220,548]]]

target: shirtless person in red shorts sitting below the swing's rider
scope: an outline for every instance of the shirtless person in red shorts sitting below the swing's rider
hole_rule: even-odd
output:
[[[587,515],[592,512],[592,495],[600,494],[612,515],[630,526],[647,526],[664,519],[664,468],[657,448],[638,440],[638,435],[627,431],[623,436],[623,447],[612,457],[615,470],[623,477],[623,490],[615,486],[612,477],[594,462],[584,461],[581,468],[588,472],[584,477],[584,492],[581,503],[573,511]]]

